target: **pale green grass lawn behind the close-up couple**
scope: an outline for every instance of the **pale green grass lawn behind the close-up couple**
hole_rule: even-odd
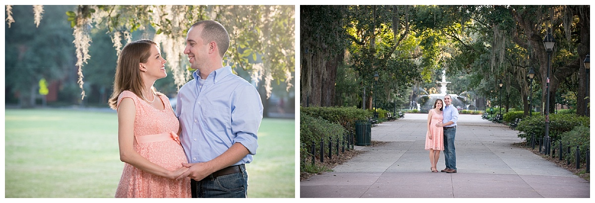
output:
[[[124,163],[114,112],[5,110],[5,198],[110,198]],[[295,120],[262,120],[250,198],[295,197]]]

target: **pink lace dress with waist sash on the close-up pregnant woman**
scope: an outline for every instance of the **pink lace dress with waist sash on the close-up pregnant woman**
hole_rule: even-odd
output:
[[[170,100],[165,95],[157,97],[165,104],[158,110],[140,99],[131,91],[123,91],[118,97],[118,105],[123,98],[134,100],[134,151],[167,170],[176,170],[181,163],[188,163],[180,145],[177,132],[180,123],[171,109]],[[158,100],[155,100],[158,101]],[[120,183],[115,192],[116,198],[191,198],[190,178],[172,180],[143,172],[124,163]]]

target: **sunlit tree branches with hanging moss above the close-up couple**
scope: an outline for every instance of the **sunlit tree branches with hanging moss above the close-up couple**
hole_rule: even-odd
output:
[[[89,47],[92,30],[108,30],[119,54],[121,40],[130,42],[130,34],[137,30],[154,28],[154,39],[161,44],[167,56],[168,68],[180,87],[190,78],[189,62],[182,60],[188,28],[199,20],[220,22],[230,33],[230,49],[224,62],[252,72],[252,80],[264,81],[267,97],[271,81],[292,87],[295,56],[295,6],[293,5],[79,5],[66,12],[73,28],[76,48],[76,66],[79,68],[79,87],[82,98],[83,66],[90,59]],[[7,24],[13,19],[11,6],[7,6]],[[15,19],[17,21],[18,19]],[[8,30],[8,29],[7,29]],[[248,59],[259,55],[262,63],[252,64]]]

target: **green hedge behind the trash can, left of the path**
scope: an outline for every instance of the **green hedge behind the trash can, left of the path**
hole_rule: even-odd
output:
[[[347,131],[352,132],[355,128],[355,120],[366,120],[372,112],[353,107],[300,107],[300,115],[309,115],[314,118],[322,118],[330,123],[337,123]],[[301,128],[301,126],[300,126]]]

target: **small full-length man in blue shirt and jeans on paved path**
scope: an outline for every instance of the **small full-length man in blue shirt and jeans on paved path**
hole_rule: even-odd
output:
[[[444,128],[444,163],[446,168],[440,172],[456,173],[455,134],[459,111],[452,105],[452,98],[448,94],[444,96],[442,115],[443,122],[437,123],[436,126]]]

